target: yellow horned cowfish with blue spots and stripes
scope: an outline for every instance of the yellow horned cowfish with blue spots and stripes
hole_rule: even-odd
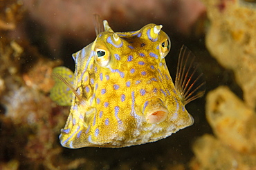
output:
[[[107,21],[103,25],[93,43],[73,54],[75,74],[66,67],[53,70],[51,98],[71,105],[61,145],[129,147],[192,125],[184,106],[203,95],[204,82],[201,74],[193,79],[191,52],[182,48],[174,85],[165,63],[171,43],[162,25],[116,33]]]

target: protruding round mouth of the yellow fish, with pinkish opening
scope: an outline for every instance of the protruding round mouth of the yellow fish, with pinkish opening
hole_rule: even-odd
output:
[[[168,113],[160,98],[149,98],[143,105],[143,115],[147,123],[161,123],[167,118]]]

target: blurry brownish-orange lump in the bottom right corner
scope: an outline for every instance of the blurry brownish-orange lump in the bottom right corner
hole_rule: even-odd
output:
[[[255,169],[256,155],[241,154],[227,145],[205,134],[194,143],[191,169]]]

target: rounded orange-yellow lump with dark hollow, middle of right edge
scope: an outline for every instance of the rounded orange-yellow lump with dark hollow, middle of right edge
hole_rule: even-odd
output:
[[[241,153],[256,154],[256,114],[227,87],[208,94],[206,117],[223,144]]]

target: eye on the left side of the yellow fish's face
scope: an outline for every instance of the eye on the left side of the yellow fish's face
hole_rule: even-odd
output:
[[[102,67],[107,67],[110,61],[110,54],[108,50],[95,48],[95,61]]]

